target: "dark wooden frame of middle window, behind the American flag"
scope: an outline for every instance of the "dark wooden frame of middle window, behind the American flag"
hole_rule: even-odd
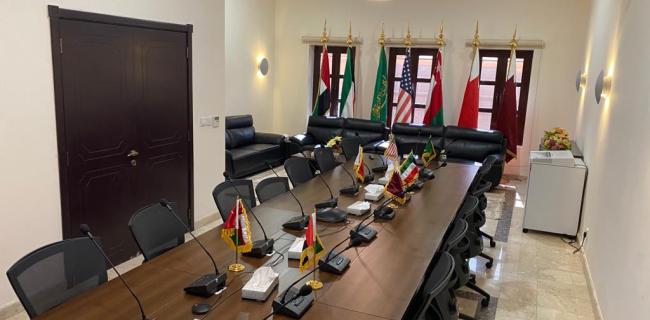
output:
[[[420,63],[420,56],[432,56],[431,60],[431,68],[433,72],[433,67],[436,65],[436,58],[438,56],[438,50],[439,48],[437,47],[417,47],[417,48],[411,48],[411,81],[413,83],[413,112],[411,112],[411,121],[410,123],[413,123],[413,119],[415,118],[415,108],[422,109],[426,108],[426,105],[423,104],[415,104],[415,99],[417,96],[417,86],[418,83],[431,83],[431,77],[428,79],[418,79],[418,67]],[[397,56],[398,55],[406,55],[406,47],[390,47],[388,51],[388,96],[387,96],[387,101],[388,101],[388,116],[386,118],[386,122],[388,126],[391,126],[393,123],[393,108],[397,106],[397,103],[393,102],[393,96],[394,93],[393,91],[395,90],[395,82],[401,81],[401,71],[399,74],[399,77],[396,77],[395,75],[395,66],[397,62]]]

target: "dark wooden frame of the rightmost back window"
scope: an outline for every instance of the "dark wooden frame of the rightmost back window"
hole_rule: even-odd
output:
[[[523,145],[524,141],[524,127],[526,125],[526,111],[528,109],[528,93],[530,91],[530,81],[533,69],[533,56],[534,50],[517,50],[517,59],[524,60],[522,68],[521,82],[515,81],[515,86],[520,88],[519,91],[519,105],[517,108],[517,134],[519,135],[517,145]],[[483,72],[483,58],[497,58],[497,70],[494,81],[482,80],[481,75]],[[506,74],[508,72],[508,59],[510,59],[510,49],[481,49],[479,50],[479,88],[482,85],[494,86],[494,95],[492,97],[492,109],[480,108],[479,112],[491,113],[490,129],[494,129],[496,125],[496,117],[494,115],[499,110],[501,99],[503,99],[503,89],[506,83]],[[516,79],[515,79],[516,80]]]

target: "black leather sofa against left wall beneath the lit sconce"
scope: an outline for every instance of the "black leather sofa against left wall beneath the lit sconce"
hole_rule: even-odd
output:
[[[226,172],[233,178],[266,170],[266,162],[280,165],[286,159],[285,138],[255,132],[253,117],[226,117]]]

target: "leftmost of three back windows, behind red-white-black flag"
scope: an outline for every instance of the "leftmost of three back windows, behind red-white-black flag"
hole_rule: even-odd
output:
[[[330,93],[332,95],[332,105],[330,106],[329,115],[338,117],[339,115],[339,100],[341,99],[341,87],[343,86],[343,76],[345,74],[345,64],[348,59],[348,47],[333,47],[327,46],[327,53],[330,61]],[[355,48],[352,47],[352,61],[354,60]],[[314,73],[313,73],[313,99],[312,107],[318,98],[318,82],[320,79],[320,62],[323,56],[323,46],[314,46]],[[354,72],[354,65],[352,66]]]

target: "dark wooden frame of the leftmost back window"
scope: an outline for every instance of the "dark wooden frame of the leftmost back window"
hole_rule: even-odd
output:
[[[352,53],[352,72],[355,72],[354,62],[356,62],[356,48],[354,46],[350,47]],[[339,116],[339,95],[340,89],[339,82],[343,79],[345,69],[341,70],[341,55],[347,53],[348,46],[327,46],[327,52],[332,54],[332,69],[330,70],[330,108],[329,112],[325,115],[330,117]],[[312,61],[313,76],[312,76],[312,107],[316,103],[318,98],[318,83],[320,81],[320,56],[323,53],[323,46],[315,45],[314,46],[314,60]],[[346,57],[347,58],[347,57]],[[356,79],[355,79],[356,80]]]

